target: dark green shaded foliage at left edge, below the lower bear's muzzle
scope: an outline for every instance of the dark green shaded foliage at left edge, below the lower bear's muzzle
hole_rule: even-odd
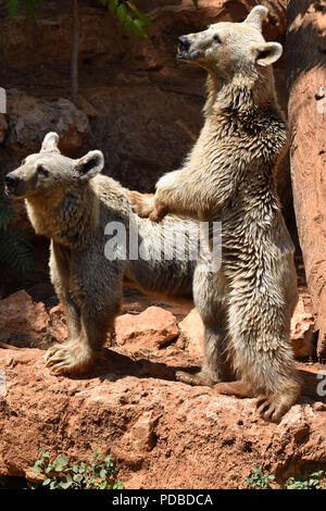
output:
[[[16,212],[0,190],[0,263],[20,273],[32,270],[32,245],[24,229],[15,225]]]

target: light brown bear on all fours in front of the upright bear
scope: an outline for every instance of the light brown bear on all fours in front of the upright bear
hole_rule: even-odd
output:
[[[128,190],[99,174],[100,151],[72,160],[60,153],[58,140],[55,133],[48,134],[41,151],[27,157],[5,183],[10,197],[25,199],[35,230],[51,239],[51,281],[65,310],[70,337],[49,349],[48,365],[57,374],[78,374],[100,356],[114,327],[123,283],[172,300],[192,300],[197,262],[189,258],[189,247],[199,232],[198,222],[189,220],[167,216],[156,225],[139,219]],[[142,258],[133,257],[128,244],[124,254],[124,239],[105,230],[108,225],[125,226],[128,236],[138,232]],[[178,253],[183,237],[185,253]],[[162,240],[170,259],[150,258]],[[112,247],[116,242],[115,260],[105,257],[108,242]]]

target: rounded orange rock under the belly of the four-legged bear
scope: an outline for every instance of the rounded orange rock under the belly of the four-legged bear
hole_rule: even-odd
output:
[[[160,307],[149,307],[140,314],[123,314],[115,320],[117,345],[160,348],[179,334],[176,317]]]

